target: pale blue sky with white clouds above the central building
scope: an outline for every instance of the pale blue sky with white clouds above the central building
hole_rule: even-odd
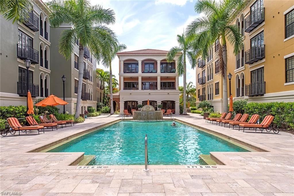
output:
[[[115,11],[116,24],[110,28],[117,34],[120,43],[126,44],[126,51],[139,49],[169,50],[177,46],[176,35],[199,14],[194,11],[195,1],[154,0],[154,1],[115,1],[91,0],[103,8]],[[187,59],[188,60],[188,59]],[[118,79],[118,58],[112,62],[113,74]],[[98,68],[105,69],[102,65]],[[195,85],[196,71],[187,64],[187,82]],[[183,78],[180,77],[180,85]]]

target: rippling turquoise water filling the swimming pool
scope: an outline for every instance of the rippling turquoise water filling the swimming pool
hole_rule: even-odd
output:
[[[83,135],[49,152],[96,155],[89,165],[144,165],[148,135],[150,165],[203,165],[199,155],[209,152],[248,152],[219,137],[171,121],[121,121]]]

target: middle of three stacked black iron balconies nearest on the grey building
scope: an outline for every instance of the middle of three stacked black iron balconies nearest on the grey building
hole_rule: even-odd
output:
[[[27,44],[17,44],[17,58],[30,59],[32,64],[38,64],[39,52]]]

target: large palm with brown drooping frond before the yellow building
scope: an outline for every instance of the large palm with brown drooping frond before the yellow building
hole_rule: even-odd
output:
[[[220,62],[220,74],[223,77],[223,109],[228,112],[228,90],[227,90],[227,40],[234,46],[234,54],[242,47],[242,35],[238,26],[231,22],[236,13],[244,6],[243,0],[199,0],[195,4],[195,11],[204,13],[205,16],[195,19],[187,27],[186,35],[193,37],[193,49],[196,57],[202,59],[208,57],[209,48],[221,40],[216,54]]]

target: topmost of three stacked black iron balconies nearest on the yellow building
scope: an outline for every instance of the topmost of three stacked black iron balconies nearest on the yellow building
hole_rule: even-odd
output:
[[[251,32],[264,21],[264,7],[254,10],[245,18],[245,32]]]

